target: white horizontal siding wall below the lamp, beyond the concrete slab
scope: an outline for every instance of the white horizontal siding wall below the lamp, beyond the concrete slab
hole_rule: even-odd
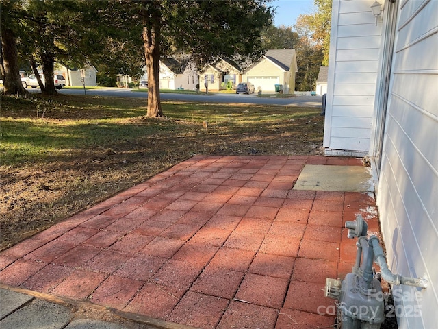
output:
[[[364,156],[370,148],[382,24],[374,0],[334,0],[324,148],[329,156]]]

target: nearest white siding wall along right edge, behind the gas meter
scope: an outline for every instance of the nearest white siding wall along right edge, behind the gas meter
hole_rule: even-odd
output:
[[[397,5],[377,204],[390,269],[428,278],[422,291],[396,287],[398,328],[437,328],[438,1]]]

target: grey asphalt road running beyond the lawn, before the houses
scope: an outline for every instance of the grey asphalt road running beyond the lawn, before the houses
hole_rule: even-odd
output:
[[[27,88],[31,92],[36,92],[36,89]],[[59,93],[66,95],[83,95],[83,89],[61,89]],[[102,97],[137,97],[147,98],[147,92],[136,92],[123,88],[103,88],[86,90],[86,95],[102,96]],[[257,97],[257,94],[177,94],[177,93],[161,93],[162,100],[176,101],[199,101],[205,103],[251,103],[261,105],[280,105],[280,106],[309,106],[318,107],[322,105],[322,97],[320,96],[300,96],[288,98],[279,97]]]

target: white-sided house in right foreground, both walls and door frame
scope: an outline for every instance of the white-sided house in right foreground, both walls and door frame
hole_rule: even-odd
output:
[[[428,279],[393,287],[398,328],[436,328],[438,1],[379,1],[333,0],[324,148],[370,156],[389,268]]]

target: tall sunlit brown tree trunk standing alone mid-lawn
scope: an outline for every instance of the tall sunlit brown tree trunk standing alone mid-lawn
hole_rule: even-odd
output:
[[[159,1],[151,1],[142,12],[144,57],[148,70],[147,117],[163,117],[159,97],[159,43],[161,41],[161,12]]]

